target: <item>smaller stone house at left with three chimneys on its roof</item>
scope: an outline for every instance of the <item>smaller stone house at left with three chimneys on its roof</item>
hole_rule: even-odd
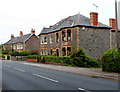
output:
[[[3,44],[3,50],[9,51],[23,51],[23,50],[39,50],[39,39],[35,35],[35,29],[31,29],[31,33],[23,35],[20,31],[20,36],[14,37],[11,35],[11,39]]]

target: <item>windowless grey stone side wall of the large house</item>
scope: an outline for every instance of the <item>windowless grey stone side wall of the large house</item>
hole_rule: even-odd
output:
[[[110,29],[85,28],[80,30],[80,47],[87,55],[93,58],[100,58],[101,55],[110,49]]]

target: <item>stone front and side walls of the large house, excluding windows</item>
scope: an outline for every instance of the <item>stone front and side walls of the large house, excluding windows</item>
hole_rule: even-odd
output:
[[[69,29],[69,28],[67,28]],[[72,31],[71,41],[62,41],[62,31],[58,32],[59,42],[56,42],[56,33],[46,34],[47,44],[41,44],[40,41],[40,51],[41,49],[47,49],[47,55],[50,55],[50,49],[56,50],[59,48],[59,56],[62,56],[63,47],[81,47],[83,48],[87,55],[93,58],[100,58],[101,55],[108,49],[110,49],[110,29],[101,28],[88,28],[83,30],[83,27],[70,28]],[[53,42],[50,43],[50,36],[52,35]],[[41,37],[44,35],[40,36]]]

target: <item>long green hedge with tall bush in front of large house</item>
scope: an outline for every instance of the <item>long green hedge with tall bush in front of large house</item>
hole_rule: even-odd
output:
[[[78,51],[71,54],[71,56],[57,57],[57,56],[39,56],[29,55],[29,59],[39,59],[40,62],[53,62],[53,63],[64,63],[65,65],[77,66],[77,67],[100,67],[100,62],[86,56],[84,50],[81,48]]]

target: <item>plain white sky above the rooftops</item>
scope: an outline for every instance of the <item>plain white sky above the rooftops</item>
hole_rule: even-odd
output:
[[[90,12],[97,12],[99,22],[109,25],[109,18],[114,15],[115,0],[0,0],[0,43],[10,39],[11,34],[28,34],[31,28],[36,35],[43,27],[54,25],[61,19],[75,14],[90,17]],[[118,0],[120,1],[120,0]]]

